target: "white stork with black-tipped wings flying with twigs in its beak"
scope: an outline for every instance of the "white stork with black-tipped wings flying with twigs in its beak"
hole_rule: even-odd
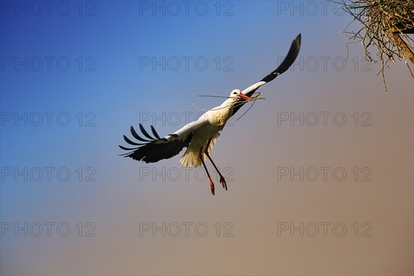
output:
[[[152,137],[145,130],[144,126],[139,124],[139,129],[144,135],[144,137],[142,137],[142,135],[139,136],[135,129],[131,126],[130,130],[132,136],[140,142],[137,143],[135,141],[131,141],[124,135],[124,139],[128,144],[137,146],[135,148],[119,146],[119,148],[123,150],[128,150],[127,153],[123,154],[124,157],[130,157],[137,161],[144,161],[146,163],[153,163],[161,159],[171,158],[179,154],[179,152],[186,147],[187,150],[181,157],[180,163],[183,166],[194,168],[197,168],[203,164],[204,169],[207,172],[208,180],[210,181],[211,193],[214,195],[214,183],[210,177],[210,173],[207,170],[206,164],[204,163],[206,158],[210,159],[220,176],[221,185],[227,190],[226,179],[224,179],[223,175],[221,175],[221,172],[214,164],[213,159],[210,157],[210,152],[213,150],[217,137],[220,135],[219,131],[223,130],[224,125],[226,125],[226,121],[235,115],[235,112],[237,112],[237,110],[239,110],[244,103],[252,100],[250,97],[253,93],[255,93],[257,88],[263,86],[269,81],[273,81],[275,77],[288,70],[299,54],[300,44],[301,34],[298,34],[290,45],[288,55],[273,72],[270,72],[270,74],[264,77],[261,81],[249,86],[243,91],[240,91],[239,89],[231,91],[228,99],[226,99],[224,103],[221,103],[220,106],[208,110],[204,113],[204,115],[201,115],[197,121],[187,124],[183,128],[180,128],[166,137],[161,138],[157,131],[155,131],[155,128],[151,126],[151,131],[154,135],[154,137]]]

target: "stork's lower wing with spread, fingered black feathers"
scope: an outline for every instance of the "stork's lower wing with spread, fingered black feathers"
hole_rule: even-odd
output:
[[[178,155],[184,147],[188,147],[188,145],[190,145],[191,138],[193,137],[194,130],[199,128],[199,126],[202,126],[205,122],[206,120],[204,117],[201,117],[199,120],[187,124],[183,128],[180,128],[176,132],[167,135],[164,138],[159,137],[153,126],[151,126],[151,131],[154,137],[152,137],[141,124],[139,124],[139,129],[142,132],[141,136],[139,136],[135,129],[131,126],[131,134],[139,142],[130,140],[126,137],[126,135],[124,135],[124,140],[128,144],[137,147],[126,148],[119,145],[119,148],[129,151],[123,154],[124,157],[130,157],[137,161],[154,163],[161,159],[168,159]]]

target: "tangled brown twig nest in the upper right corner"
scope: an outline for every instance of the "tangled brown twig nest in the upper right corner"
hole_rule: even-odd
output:
[[[344,10],[351,14],[354,21],[362,23],[362,28],[357,32],[344,32],[350,39],[362,43],[366,59],[375,63],[381,61],[382,67],[378,75],[382,74],[385,90],[384,69],[389,67],[390,61],[395,63],[395,57],[404,59],[411,77],[414,78],[411,70],[413,65],[408,63],[414,63],[414,40],[410,37],[410,34],[414,34],[414,0],[341,1]],[[371,54],[371,47],[377,49],[377,58]]]

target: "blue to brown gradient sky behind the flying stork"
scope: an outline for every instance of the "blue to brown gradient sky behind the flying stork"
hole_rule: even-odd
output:
[[[397,61],[385,92],[333,3],[0,4],[1,275],[414,273],[413,79]],[[182,152],[118,156],[131,125],[174,132],[299,33],[293,68],[217,140],[228,191]]]

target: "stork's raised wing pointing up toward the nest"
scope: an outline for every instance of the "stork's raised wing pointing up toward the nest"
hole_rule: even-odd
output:
[[[264,77],[261,81],[258,81],[257,83],[243,90],[242,93],[244,95],[247,95],[248,97],[251,97],[253,93],[257,90],[257,88],[263,86],[265,83],[268,83],[269,81],[273,81],[273,79],[275,79],[277,76],[286,72],[286,70],[288,70],[288,68],[293,64],[293,62],[295,62],[295,59],[299,54],[301,38],[302,35],[297,34],[297,37],[293,39],[292,44],[290,45],[288,55],[286,55],[282,63],[275,70],[273,70],[273,72],[270,72],[270,74]],[[246,102],[247,101],[245,101],[244,99],[239,99],[239,101],[235,104],[235,107],[233,108],[233,115],[235,115],[235,112],[237,112],[237,110],[239,110]]]

